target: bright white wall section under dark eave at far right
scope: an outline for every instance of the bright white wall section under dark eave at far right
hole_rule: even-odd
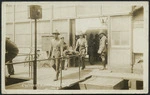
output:
[[[143,8],[133,14],[133,52],[143,53],[144,48],[144,18]],[[140,43],[140,44],[139,44]]]

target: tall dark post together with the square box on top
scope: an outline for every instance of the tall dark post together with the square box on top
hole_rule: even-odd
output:
[[[35,55],[33,65],[33,89],[37,89],[37,19],[42,18],[42,8],[39,5],[29,6],[29,19],[35,20]]]

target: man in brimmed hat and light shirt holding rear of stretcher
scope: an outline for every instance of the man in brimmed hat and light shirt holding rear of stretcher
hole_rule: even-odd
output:
[[[83,70],[85,68],[84,57],[87,54],[87,41],[84,38],[84,34],[82,32],[80,32],[79,36],[80,38],[76,42],[75,50],[77,50],[77,47],[79,47],[80,62],[82,64],[82,70]]]

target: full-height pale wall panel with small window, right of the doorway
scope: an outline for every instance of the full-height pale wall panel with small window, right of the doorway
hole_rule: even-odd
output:
[[[112,71],[131,72],[131,16],[110,17],[109,66]]]

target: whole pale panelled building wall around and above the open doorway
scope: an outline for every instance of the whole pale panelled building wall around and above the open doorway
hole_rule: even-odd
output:
[[[18,45],[20,53],[29,53],[31,50],[34,50],[34,20],[28,19],[29,5],[31,4],[6,5],[6,35],[10,36],[10,38]],[[139,10],[139,12],[135,13],[132,17],[134,39],[131,39],[131,37],[129,37],[131,36],[131,27],[128,27],[128,22],[130,22],[131,20],[128,19],[128,17],[125,17],[132,11],[131,5],[110,5],[102,3],[69,3],[64,5],[57,3],[45,3],[40,4],[40,6],[42,7],[42,19],[39,19],[37,24],[38,49],[41,49],[42,47],[42,36],[51,35],[52,31],[55,31],[56,29],[65,37],[65,41],[70,44],[69,41],[71,38],[69,36],[70,34],[72,34],[70,33],[70,30],[74,29],[71,31],[77,32],[75,26],[75,21],[77,19],[108,17],[108,62],[109,64],[111,64],[111,67],[119,67],[118,64],[120,64],[122,67],[127,68],[126,71],[131,72],[130,63],[132,63],[132,47],[130,47],[130,45],[132,45],[132,40],[133,52],[143,52],[142,46],[144,45],[142,45],[141,40],[144,36],[138,36],[144,34],[142,32],[143,12]],[[118,18],[116,19],[116,17]],[[123,20],[122,17],[125,19]],[[71,21],[74,21],[73,26],[70,23]],[[70,26],[72,26],[73,28],[70,28]],[[73,33],[73,35],[75,34],[76,33]],[[74,44],[75,43],[73,43],[73,45]],[[121,61],[118,61],[116,59],[119,59]]]

